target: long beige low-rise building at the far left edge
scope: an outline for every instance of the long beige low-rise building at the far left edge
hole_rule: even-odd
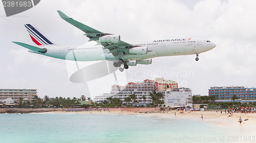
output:
[[[18,98],[21,97],[24,101],[31,102],[36,95],[37,90],[34,89],[0,89],[0,100],[10,97],[14,101],[18,101]]]

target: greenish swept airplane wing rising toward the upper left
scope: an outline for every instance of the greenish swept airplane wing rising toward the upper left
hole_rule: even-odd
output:
[[[129,50],[129,48],[134,47],[133,45],[123,42],[123,41],[120,41],[117,44],[100,43],[99,37],[102,37],[105,35],[112,35],[112,34],[102,33],[100,31],[95,30],[94,28],[92,28],[90,26],[87,26],[83,23],[80,23],[80,22],[74,20],[73,18],[68,17],[66,14],[64,14],[63,12],[61,12],[59,10],[57,12],[62,19],[64,19],[65,21],[67,21],[70,24],[74,25],[75,27],[79,28],[79,30],[86,33],[84,35],[90,39],[89,41],[96,41],[98,43],[98,45],[104,46],[103,49],[109,49],[110,50],[109,53],[112,53],[114,56],[116,56],[119,51],[123,51],[124,53],[129,54],[129,52],[127,52]]]

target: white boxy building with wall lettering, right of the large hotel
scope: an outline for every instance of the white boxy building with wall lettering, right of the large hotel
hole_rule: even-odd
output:
[[[175,88],[164,98],[164,104],[170,107],[190,106],[192,107],[192,91],[188,88]]]

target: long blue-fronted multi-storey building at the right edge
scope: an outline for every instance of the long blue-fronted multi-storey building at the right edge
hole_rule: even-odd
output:
[[[216,102],[232,102],[231,98],[234,95],[240,101],[254,102],[256,100],[256,88],[210,87],[209,89],[209,96],[215,96]]]

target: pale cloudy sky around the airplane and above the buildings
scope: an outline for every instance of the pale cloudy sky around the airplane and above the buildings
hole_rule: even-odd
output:
[[[193,95],[208,95],[210,87],[255,87],[256,3],[221,0],[161,1],[41,1],[34,8],[6,17],[0,6],[0,89],[37,89],[39,97],[95,97],[110,93],[111,85],[130,81],[172,79]],[[34,24],[59,45],[88,43],[83,32],[56,12],[125,42],[173,38],[203,38],[216,48],[196,55],[154,58],[151,65],[130,67],[123,73],[74,83],[72,64],[30,53],[11,41],[34,45],[24,24]],[[81,64],[90,64],[81,63]]]

